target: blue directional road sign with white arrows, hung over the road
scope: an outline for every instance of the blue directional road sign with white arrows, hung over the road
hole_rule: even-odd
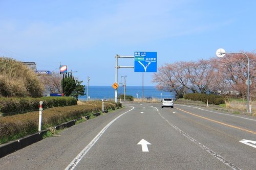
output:
[[[157,52],[134,52],[134,72],[157,72]]]

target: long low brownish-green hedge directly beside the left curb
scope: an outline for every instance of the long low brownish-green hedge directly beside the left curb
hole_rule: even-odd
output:
[[[104,102],[104,110],[121,107],[120,103]],[[60,125],[91,113],[99,112],[102,102],[87,102],[84,105],[54,107],[42,111],[42,130]],[[38,130],[39,111],[0,117],[0,144]]]

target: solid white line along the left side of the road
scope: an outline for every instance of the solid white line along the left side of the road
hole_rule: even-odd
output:
[[[133,107],[133,106],[132,106]],[[134,107],[131,109],[133,110]],[[111,124],[113,124],[119,117],[124,115],[125,113],[130,112],[131,110],[128,110],[124,112],[123,114],[119,115],[115,119],[113,119],[108,125],[106,125],[94,138],[93,140],[84,148],[76,157],[73,159],[73,161],[65,168],[65,170],[72,170],[76,167],[76,165],[79,163],[79,161],[87,154],[87,152],[93,147],[93,145],[97,142],[97,140],[100,138],[100,136],[105,132],[106,129],[108,129]]]

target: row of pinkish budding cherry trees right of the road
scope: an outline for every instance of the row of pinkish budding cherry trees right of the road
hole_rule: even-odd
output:
[[[246,53],[250,59],[250,96],[256,98],[256,54]],[[240,54],[226,54],[223,58],[165,64],[153,75],[157,88],[175,92],[177,98],[187,92],[227,94],[238,91],[247,96],[247,58]]]

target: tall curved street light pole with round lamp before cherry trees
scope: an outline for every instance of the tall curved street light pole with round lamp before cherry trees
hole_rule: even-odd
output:
[[[250,60],[249,57],[245,53],[239,52],[225,52],[224,49],[220,48],[217,50],[216,55],[218,57],[223,57],[225,54],[243,54],[247,57],[247,113],[249,113],[249,102],[250,102]]]

